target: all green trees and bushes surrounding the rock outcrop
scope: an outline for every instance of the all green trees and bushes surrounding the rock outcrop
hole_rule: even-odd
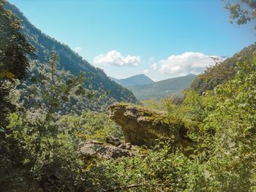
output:
[[[192,85],[178,105],[171,97],[148,104],[186,125],[192,149],[170,137],[141,147],[143,156],[84,159],[81,142],[124,139],[120,127],[104,113],[85,111],[94,102],[93,85],[83,87],[83,72],[60,69],[58,51],[45,62],[33,59],[20,20],[3,4],[0,191],[256,191],[255,45],[207,69],[199,78],[208,74],[209,81]],[[230,73],[211,84],[226,66]],[[105,96],[99,91],[96,103]]]

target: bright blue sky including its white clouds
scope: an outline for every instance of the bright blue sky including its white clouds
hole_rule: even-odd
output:
[[[45,34],[110,77],[199,74],[211,57],[255,42],[255,23],[228,23],[222,0],[10,0]]]

